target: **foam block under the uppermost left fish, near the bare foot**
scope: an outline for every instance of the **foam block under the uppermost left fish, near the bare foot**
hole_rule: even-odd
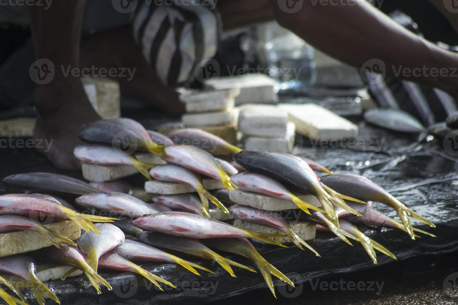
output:
[[[94,165],[83,163],[81,166],[84,179],[90,182],[108,182],[133,176],[139,171],[128,165]]]

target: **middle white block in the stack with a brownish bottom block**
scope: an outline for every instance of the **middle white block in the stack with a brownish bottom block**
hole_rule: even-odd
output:
[[[186,127],[219,126],[235,123],[235,110],[223,112],[185,113],[181,121]]]

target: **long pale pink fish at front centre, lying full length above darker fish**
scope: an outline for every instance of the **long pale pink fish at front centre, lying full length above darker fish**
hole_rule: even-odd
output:
[[[181,237],[196,239],[227,237],[256,238],[284,247],[278,241],[270,239],[270,237],[284,237],[284,235],[252,232],[219,220],[190,213],[164,212],[147,215],[135,219],[133,224],[142,230],[156,231]]]

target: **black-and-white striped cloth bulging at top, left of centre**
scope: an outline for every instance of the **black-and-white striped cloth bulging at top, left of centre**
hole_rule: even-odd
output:
[[[190,86],[196,66],[216,54],[222,32],[215,0],[164,0],[143,3],[133,34],[147,63],[168,86]]]

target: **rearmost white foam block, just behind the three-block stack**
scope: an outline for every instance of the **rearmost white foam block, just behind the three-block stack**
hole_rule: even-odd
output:
[[[275,80],[267,75],[236,75],[220,77],[216,82],[210,79],[206,82],[207,89],[224,90],[240,88],[240,95],[235,97],[235,105],[247,103],[278,103],[278,95],[274,92]]]

